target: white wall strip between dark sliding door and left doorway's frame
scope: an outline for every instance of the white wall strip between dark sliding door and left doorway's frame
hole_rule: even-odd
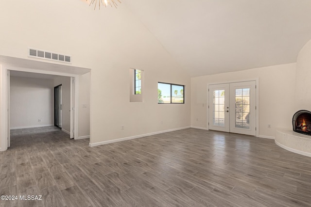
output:
[[[70,77],[54,78],[53,88],[62,85],[62,129],[70,133]]]

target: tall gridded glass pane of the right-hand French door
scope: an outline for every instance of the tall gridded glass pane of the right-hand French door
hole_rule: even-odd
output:
[[[235,127],[250,128],[250,88],[235,89]]]

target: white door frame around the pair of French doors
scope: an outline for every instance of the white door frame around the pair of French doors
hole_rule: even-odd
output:
[[[208,92],[208,86],[209,85],[216,85],[216,84],[226,84],[226,83],[236,83],[236,82],[247,82],[247,81],[255,81],[256,84],[256,137],[259,137],[259,78],[253,78],[253,79],[242,79],[242,80],[228,80],[228,81],[221,81],[221,82],[210,82],[207,83],[207,130],[209,130],[209,92]]]

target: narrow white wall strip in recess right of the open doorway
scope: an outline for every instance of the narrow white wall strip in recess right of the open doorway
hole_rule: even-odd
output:
[[[87,138],[90,132],[90,73],[79,77],[79,137]]]

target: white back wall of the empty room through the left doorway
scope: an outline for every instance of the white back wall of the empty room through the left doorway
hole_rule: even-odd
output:
[[[53,80],[11,76],[11,129],[53,126],[53,93]]]

